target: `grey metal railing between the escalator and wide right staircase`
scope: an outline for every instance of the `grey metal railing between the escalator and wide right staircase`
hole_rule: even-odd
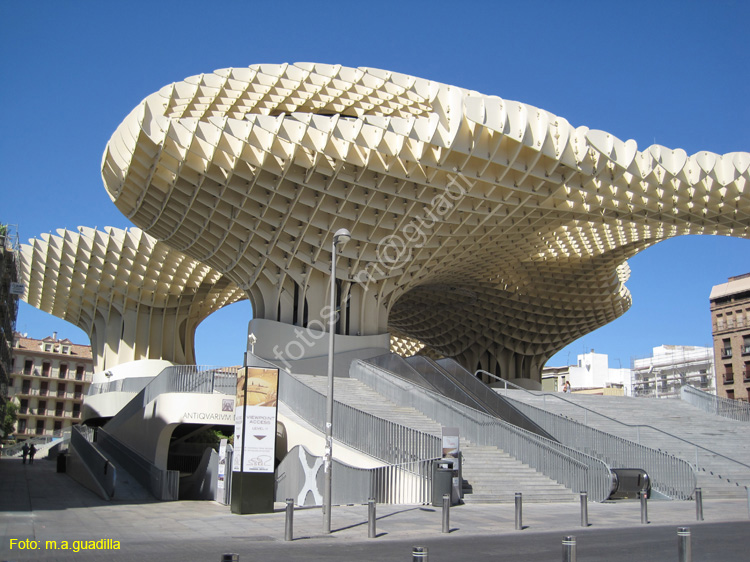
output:
[[[534,396],[540,394],[535,391],[527,390],[500,377],[496,377],[491,373],[487,374],[502,381],[505,384],[506,392],[508,387],[512,387]],[[692,497],[696,486],[696,467],[692,466],[684,459],[640,444],[641,429],[648,428],[653,429],[654,431],[659,430],[652,428],[651,426],[625,424],[614,418],[610,418],[609,416],[604,416],[597,412],[588,410],[587,408],[575,404],[557,394],[541,394],[545,401],[548,396],[553,397],[554,399],[559,399],[568,404],[578,406],[584,411],[584,422],[580,423],[565,416],[548,412],[543,408],[538,408],[517,400],[514,401],[519,409],[524,411],[526,415],[552,433],[561,443],[565,443],[566,445],[579,450],[587,451],[590,454],[601,458],[614,468],[642,468],[651,478],[653,488],[671,498],[688,499]],[[508,397],[506,396],[506,398]],[[511,398],[508,399],[512,400]],[[601,416],[602,418],[624,427],[634,429],[635,441],[590,427],[588,425],[589,414]],[[677,437],[675,438],[679,439]]]

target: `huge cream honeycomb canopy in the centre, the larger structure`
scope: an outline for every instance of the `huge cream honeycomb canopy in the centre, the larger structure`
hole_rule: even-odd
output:
[[[242,287],[258,317],[393,330],[465,366],[539,376],[630,306],[626,260],[750,236],[750,155],[622,141],[386,70],[254,65],[171,84],[110,139],[117,207]]]

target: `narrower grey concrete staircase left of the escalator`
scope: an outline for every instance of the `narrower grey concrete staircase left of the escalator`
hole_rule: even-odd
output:
[[[310,388],[326,394],[326,377],[294,375]],[[442,427],[414,408],[398,406],[364,383],[336,377],[334,397],[338,402],[374,416],[440,436]],[[513,502],[521,492],[524,501],[567,502],[577,496],[569,489],[525,465],[497,447],[478,446],[461,440],[464,501],[473,503]]]

